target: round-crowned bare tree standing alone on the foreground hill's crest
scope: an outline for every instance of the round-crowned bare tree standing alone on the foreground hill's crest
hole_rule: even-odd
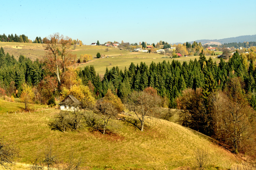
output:
[[[160,105],[160,97],[145,91],[134,91],[128,97],[127,104],[130,111],[134,112],[141,123],[141,131],[144,130],[146,119],[154,117]]]

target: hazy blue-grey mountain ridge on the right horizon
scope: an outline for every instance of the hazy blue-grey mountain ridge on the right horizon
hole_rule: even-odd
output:
[[[224,44],[224,43],[243,43],[244,41],[256,41],[256,35],[242,35],[238,37],[230,37],[230,38],[223,38],[223,39],[200,39],[195,40],[197,43],[201,42],[201,44]],[[188,43],[193,44],[194,41],[190,41]]]

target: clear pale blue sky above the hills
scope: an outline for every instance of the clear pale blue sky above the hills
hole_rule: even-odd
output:
[[[60,33],[84,44],[168,43],[256,34],[255,0],[1,0],[0,34]]]

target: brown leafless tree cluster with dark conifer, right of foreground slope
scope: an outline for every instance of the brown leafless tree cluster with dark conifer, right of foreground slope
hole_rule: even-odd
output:
[[[214,137],[238,153],[255,155],[255,111],[249,105],[238,77],[230,78],[223,90],[212,77],[201,88],[186,89],[179,97],[181,124]]]

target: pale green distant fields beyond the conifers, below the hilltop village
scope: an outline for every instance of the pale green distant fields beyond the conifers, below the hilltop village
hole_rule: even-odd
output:
[[[37,58],[42,58],[45,55],[45,51],[43,48],[43,44],[30,44],[30,43],[8,43],[8,42],[0,42],[0,46],[3,47],[5,53],[9,52],[9,54],[13,54],[15,58],[18,59],[20,54],[29,57],[31,60],[36,60]],[[109,51],[106,51],[106,48]],[[125,67],[129,67],[131,62],[135,65],[141,62],[145,62],[148,66],[153,62],[158,63],[166,60],[167,62],[172,62],[172,60],[178,60],[181,63],[183,61],[189,62],[191,60],[199,59],[199,56],[191,56],[191,57],[181,57],[171,59],[169,56],[165,56],[164,54],[156,54],[156,53],[138,53],[138,52],[130,52],[130,50],[120,50],[119,48],[110,48],[105,46],[79,46],[72,45],[70,47],[72,53],[77,55],[77,59],[81,54],[91,54],[93,56],[93,61],[79,64],[78,67],[84,69],[85,66],[94,65],[95,70],[99,74],[104,74],[106,67],[108,69],[113,66],[118,66],[119,69],[124,70]],[[74,50],[75,49],[75,50]],[[96,58],[96,54],[99,52],[104,58]],[[107,56],[109,56],[107,58]],[[210,56],[206,56],[208,59]],[[219,62],[220,59],[215,56],[211,56],[213,62]]]

